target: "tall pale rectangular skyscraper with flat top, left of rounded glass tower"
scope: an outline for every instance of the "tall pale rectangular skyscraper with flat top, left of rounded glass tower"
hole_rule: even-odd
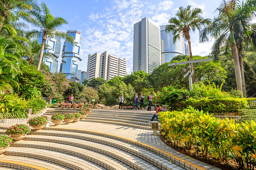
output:
[[[148,17],[134,24],[133,72],[152,73],[161,65],[160,27]]]

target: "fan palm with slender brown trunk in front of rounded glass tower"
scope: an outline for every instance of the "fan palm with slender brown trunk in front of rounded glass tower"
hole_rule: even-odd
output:
[[[177,39],[180,39],[180,35],[182,38],[185,37],[188,40],[189,46],[189,56],[190,60],[193,60],[192,51],[191,51],[191,42],[190,42],[190,30],[193,32],[196,29],[200,30],[201,26],[210,23],[210,19],[204,19],[201,17],[203,11],[200,8],[193,8],[191,6],[187,6],[187,8],[183,8],[182,6],[178,9],[178,12],[175,14],[178,18],[172,17],[169,19],[169,25],[166,26],[165,31],[172,32],[173,34],[173,43],[176,42]],[[191,64],[192,70],[194,70],[194,64]],[[195,73],[192,75],[192,81],[195,82]]]

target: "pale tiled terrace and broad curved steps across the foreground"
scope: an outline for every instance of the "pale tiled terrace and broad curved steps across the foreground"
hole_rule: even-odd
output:
[[[126,112],[106,111],[101,114],[116,116],[123,114],[124,117],[129,118],[130,113]],[[144,121],[148,121],[149,116],[152,115],[138,113],[133,115]],[[92,114],[96,116],[100,112],[95,111]],[[50,127],[44,128],[44,131],[32,131],[23,143],[12,144],[5,153],[6,156],[0,158],[0,170],[11,166],[13,169],[30,170],[41,168],[44,170],[218,169],[166,146],[159,136],[152,136],[152,131],[149,129],[127,127],[126,124],[121,126],[118,125],[119,123],[81,121],[71,124],[63,123],[59,126],[52,126],[53,124],[50,123]],[[21,167],[17,162],[25,163],[26,166]]]

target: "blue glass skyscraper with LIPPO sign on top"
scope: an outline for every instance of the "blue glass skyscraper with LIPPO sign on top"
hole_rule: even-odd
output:
[[[83,43],[79,31],[69,30],[67,33],[74,38],[74,45],[65,40],[62,50],[60,71],[68,75],[68,79],[79,82],[81,78],[81,61],[83,60]]]

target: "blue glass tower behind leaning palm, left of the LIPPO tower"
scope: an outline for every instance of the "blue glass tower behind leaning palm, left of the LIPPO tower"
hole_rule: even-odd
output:
[[[57,31],[57,30],[56,30]],[[39,43],[42,43],[42,39],[38,39]],[[54,36],[54,38],[47,37],[45,44],[48,47],[44,52],[52,54],[52,57],[44,57],[43,62],[49,66],[50,72],[54,73],[58,70],[58,58],[60,57],[60,37]]]

